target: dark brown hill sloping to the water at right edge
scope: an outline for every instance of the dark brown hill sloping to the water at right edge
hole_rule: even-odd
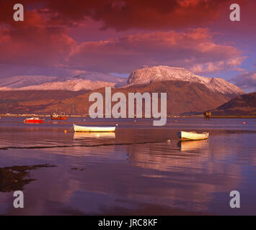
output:
[[[213,115],[256,115],[256,92],[247,93],[219,106]]]

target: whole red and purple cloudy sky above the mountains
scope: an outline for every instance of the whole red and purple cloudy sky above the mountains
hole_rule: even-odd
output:
[[[14,22],[14,4],[24,22]],[[231,22],[231,4],[240,22]],[[0,0],[0,78],[169,65],[256,91],[255,0]]]

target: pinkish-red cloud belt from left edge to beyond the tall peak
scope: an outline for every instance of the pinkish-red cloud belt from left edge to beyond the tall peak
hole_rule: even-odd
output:
[[[79,45],[63,27],[50,27],[34,11],[19,27],[0,27],[0,63],[128,73],[142,65],[172,65],[196,73],[236,68],[244,57],[213,41],[208,29],[151,32]]]

